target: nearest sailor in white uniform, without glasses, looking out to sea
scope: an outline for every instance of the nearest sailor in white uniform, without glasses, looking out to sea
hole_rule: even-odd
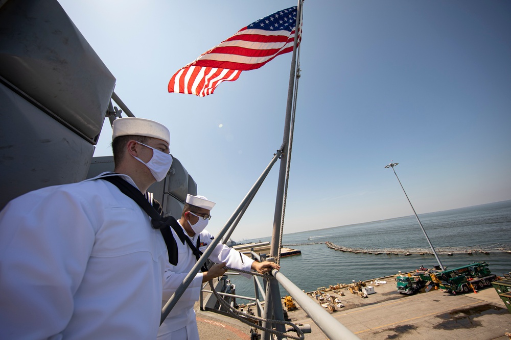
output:
[[[0,213],[0,339],[156,338],[166,244],[106,179],[144,197],[172,164],[170,133],[120,118],[112,139],[115,173],[29,192]]]

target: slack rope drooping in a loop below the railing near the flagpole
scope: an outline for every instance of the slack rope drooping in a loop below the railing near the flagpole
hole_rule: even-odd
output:
[[[270,278],[270,276],[268,276],[268,275],[263,275],[263,274],[259,274],[259,273],[255,273],[255,272],[247,272],[244,270],[238,270],[238,269],[233,269],[233,268],[229,268],[229,267],[225,267],[225,268],[227,268],[229,270],[234,270],[234,271],[237,271],[240,273],[248,273],[248,274],[256,275],[256,276],[265,276],[267,279]],[[213,280],[210,280],[208,283],[210,284],[211,291],[213,292],[213,294],[215,295],[217,300],[220,302],[220,304],[222,304],[222,306],[224,306],[224,308],[226,308],[229,315],[231,315],[233,318],[238,319],[239,321],[243,322],[244,324],[247,324],[251,327],[255,327],[260,330],[264,330],[268,333],[272,333],[272,334],[280,335],[282,337],[288,337],[288,338],[296,339],[296,340],[304,340],[305,339],[304,332],[301,331],[301,329],[299,329],[298,326],[296,326],[292,322],[284,321],[284,320],[272,320],[272,319],[260,318],[260,317],[250,315],[249,313],[239,311],[238,309],[232,307],[230,304],[225,302],[223,297],[220,296],[220,294],[218,294],[218,292],[215,290],[215,287],[213,286]],[[250,320],[252,320],[252,321],[250,321]],[[282,325],[291,326],[296,331],[296,334],[298,336],[288,334],[288,333],[279,332],[277,330],[266,328],[263,326],[259,326],[256,321],[259,321],[261,324],[263,322],[269,322],[269,323],[273,323],[273,324],[282,324]]]

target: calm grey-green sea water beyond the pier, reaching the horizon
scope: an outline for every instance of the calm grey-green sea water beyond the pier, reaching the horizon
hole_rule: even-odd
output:
[[[511,200],[455,210],[419,215],[428,237],[436,247],[488,247],[505,244],[511,247]],[[285,226],[285,228],[291,226]],[[284,229],[286,230],[286,229]],[[271,238],[246,242],[271,241]],[[284,234],[283,245],[330,241],[352,248],[423,248],[430,249],[414,215],[389,220],[346,225],[334,228]],[[419,266],[438,265],[435,256],[355,254],[341,252],[322,244],[292,246],[301,255],[281,259],[281,272],[300,289],[310,292],[321,286],[368,280],[398,271],[412,271]],[[486,261],[492,273],[502,275],[511,271],[511,254],[439,255],[444,267],[456,268]],[[229,276],[236,284],[236,293],[254,296],[250,280]],[[285,291],[281,289],[281,295]],[[287,295],[287,294],[286,294]],[[240,300],[243,302],[244,300]],[[246,302],[246,301],[245,301]]]

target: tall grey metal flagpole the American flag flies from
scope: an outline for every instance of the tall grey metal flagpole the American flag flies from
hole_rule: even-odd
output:
[[[293,44],[293,56],[291,60],[291,70],[289,74],[289,88],[288,88],[288,98],[287,98],[287,106],[286,106],[286,118],[284,122],[284,136],[281,150],[284,155],[287,157],[289,154],[289,135],[291,130],[291,115],[293,108],[293,91],[294,91],[294,83],[295,83],[295,75],[296,75],[296,49],[298,45],[298,28],[301,20],[301,4],[303,0],[298,0],[297,11],[296,11],[296,25],[294,31],[294,44]],[[285,151],[286,150],[286,151]],[[287,163],[283,162],[281,159],[280,170],[278,173],[278,184],[277,184],[277,193],[275,198],[275,212],[273,215],[273,231],[271,236],[271,246],[270,246],[270,256],[275,257],[278,253],[279,247],[279,238],[281,231],[281,221],[282,221],[282,207],[284,204],[284,187],[286,182],[286,167]],[[272,303],[268,303],[268,302]],[[269,308],[271,306],[271,308]],[[269,280],[269,284],[266,289],[265,296],[265,308],[264,308],[264,317],[268,319],[273,314],[275,320],[284,320],[284,313],[282,311],[282,303],[281,303],[281,295],[280,290],[278,288],[278,282],[276,280]],[[264,322],[263,326],[268,327],[268,323]],[[286,327],[282,324],[275,324],[274,327],[277,331],[285,332]],[[262,340],[269,340],[270,333],[263,331],[261,334]]]

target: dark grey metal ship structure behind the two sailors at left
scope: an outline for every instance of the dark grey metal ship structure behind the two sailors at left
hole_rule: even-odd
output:
[[[56,0],[0,0],[0,209],[29,191],[113,170],[111,157],[92,155],[114,87]],[[197,185],[174,159],[149,191],[178,217]]]

